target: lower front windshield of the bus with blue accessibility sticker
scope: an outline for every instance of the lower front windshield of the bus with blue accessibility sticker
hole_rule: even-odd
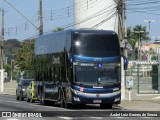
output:
[[[75,65],[74,82],[84,85],[114,85],[119,83],[119,67],[110,64]]]

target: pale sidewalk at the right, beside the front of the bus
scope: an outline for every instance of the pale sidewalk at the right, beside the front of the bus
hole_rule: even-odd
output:
[[[119,105],[124,110],[131,111],[160,111],[160,94],[137,94],[132,91],[131,100],[126,90],[125,99]]]

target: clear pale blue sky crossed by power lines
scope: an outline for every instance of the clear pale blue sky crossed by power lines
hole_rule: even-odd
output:
[[[34,26],[39,27],[39,0],[7,0],[17,10],[28,18]],[[42,0],[44,33],[57,27],[69,28],[73,25],[73,0]],[[107,0],[106,0],[107,1]],[[5,40],[36,37],[38,30],[4,0],[0,0],[0,8],[5,10]],[[126,0],[127,26],[143,25],[149,31],[149,23],[144,20],[154,20],[150,24],[150,38],[159,37],[160,32],[160,0]],[[0,14],[1,15],[1,14]],[[0,16],[1,28],[1,16]],[[160,39],[160,38],[158,38]]]

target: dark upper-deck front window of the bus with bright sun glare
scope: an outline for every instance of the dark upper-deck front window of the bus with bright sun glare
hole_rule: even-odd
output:
[[[119,39],[116,34],[75,33],[73,53],[90,57],[120,55]]]

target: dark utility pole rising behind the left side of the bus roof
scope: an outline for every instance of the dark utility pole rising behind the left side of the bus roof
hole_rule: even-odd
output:
[[[39,35],[43,35],[42,0],[39,0],[39,17],[40,17]]]

